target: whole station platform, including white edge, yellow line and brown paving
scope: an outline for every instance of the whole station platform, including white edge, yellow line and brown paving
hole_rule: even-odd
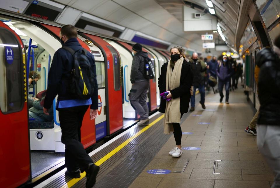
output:
[[[133,126],[92,151],[89,155],[100,165],[94,187],[269,188],[273,173],[256,137],[244,131],[255,114],[253,105],[243,89],[230,92],[230,104],[219,99],[218,93],[206,93],[206,109],[198,103],[182,117],[181,157],[168,155],[175,140],[173,134],[163,134],[159,112],[148,126]],[[85,173],[65,179],[65,171],[36,187],[85,187]]]

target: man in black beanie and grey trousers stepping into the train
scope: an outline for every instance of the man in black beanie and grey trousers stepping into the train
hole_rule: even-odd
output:
[[[148,53],[143,52],[141,44],[136,43],[132,47],[132,55],[134,55],[130,73],[132,87],[128,99],[134,110],[140,115],[137,125],[143,125],[149,120],[149,108],[146,100],[150,81],[144,77],[145,59],[148,58]]]

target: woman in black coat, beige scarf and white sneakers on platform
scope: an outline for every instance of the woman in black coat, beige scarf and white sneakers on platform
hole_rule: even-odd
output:
[[[176,142],[176,147],[169,152],[169,155],[180,157],[182,155],[180,121],[183,114],[188,112],[193,74],[192,69],[184,59],[182,47],[174,46],[170,53],[171,59],[161,67],[158,87],[160,93],[167,92],[166,97],[171,100],[162,99],[159,112],[164,113],[164,134],[173,132]]]

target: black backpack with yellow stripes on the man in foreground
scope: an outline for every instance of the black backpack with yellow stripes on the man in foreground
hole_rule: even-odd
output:
[[[94,92],[95,83],[90,62],[86,56],[88,51],[84,48],[74,51],[67,46],[62,48],[69,51],[74,58],[69,95],[75,99],[90,99]]]

